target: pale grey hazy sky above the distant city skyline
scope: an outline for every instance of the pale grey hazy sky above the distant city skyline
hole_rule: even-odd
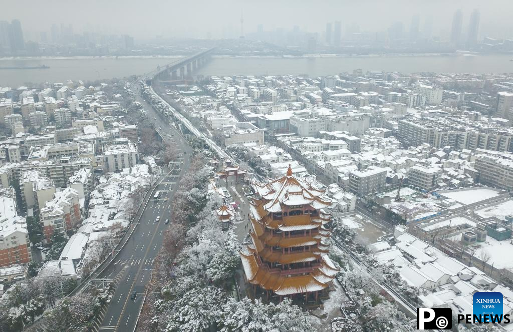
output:
[[[244,31],[254,32],[258,24],[264,30],[299,26],[310,32],[323,32],[326,22],[356,23],[361,31],[386,30],[401,21],[409,30],[411,16],[419,14],[422,30],[425,17],[433,19],[433,35],[448,35],[452,15],[463,10],[463,32],[470,12],[481,12],[480,38],[513,37],[513,1],[509,0],[16,0],[5,2],[0,20],[18,18],[27,35],[49,31],[50,26],[72,24],[74,32],[85,29],[114,34],[131,34],[139,40],[165,37],[221,37],[231,30],[239,35],[241,11]]]

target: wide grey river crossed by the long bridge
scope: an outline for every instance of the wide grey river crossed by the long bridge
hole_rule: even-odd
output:
[[[201,75],[280,75],[318,76],[367,70],[431,72],[513,72],[513,55],[373,55],[323,57],[213,57],[196,74]],[[132,74],[144,74],[164,66],[176,57],[49,57],[0,58],[0,67],[49,66],[49,69],[0,70],[0,86],[16,87],[28,82],[65,82],[66,80],[106,80]]]

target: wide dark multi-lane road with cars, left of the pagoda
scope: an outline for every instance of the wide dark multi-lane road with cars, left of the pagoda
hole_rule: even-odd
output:
[[[111,302],[101,309],[100,320],[93,327],[95,331],[131,332],[135,329],[143,305],[145,286],[151,279],[164,231],[173,224],[171,209],[174,192],[184,171],[189,167],[189,156],[192,154],[185,138],[140,97],[139,81],[135,81],[132,87],[137,101],[143,105],[148,115],[159,119],[162,126],[160,132],[165,135],[168,143],[176,145],[180,157],[170,168],[164,168],[164,174],[156,182],[154,191],[161,191],[160,198],[154,200],[152,194],[148,202],[143,203],[146,206],[130,239],[115,259],[96,276],[96,279],[112,280],[114,290],[111,292]],[[158,222],[157,217],[160,217]],[[166,219],[170,219],[169,224],[166,224]],[[136,296],[132,299],[134,292]]]

